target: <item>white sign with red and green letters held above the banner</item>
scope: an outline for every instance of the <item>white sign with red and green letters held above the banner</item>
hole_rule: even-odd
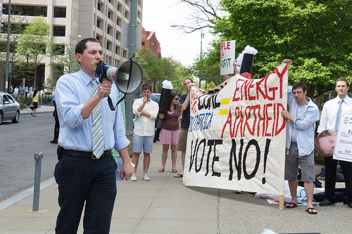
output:
[[[233,74],[234,48],[236,41],[222,41],[220,43],[220,74]]]

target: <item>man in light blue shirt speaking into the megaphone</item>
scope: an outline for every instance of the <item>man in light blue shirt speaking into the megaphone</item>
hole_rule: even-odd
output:
[[[133,167],[127,152],[120,106],[111,110],[106,94],[118,102],[118,90],[112,82],[99,83],[95,70],[103,59],[103,49],[97,39],[78,42],[76,58],[82,69],[65,74],[56,83],[56,107],[60,122],[58,137],[59,162],[55,168],[58,183],[58,203],[61,207],[56,221],[56,233],[77,233],[84,209],[84,233],[109,233],[116,196],[116,163],[111,157],[115,148],[122,157],[120,177],[130,179]],[[93,87],[99,85],[92,95]],[[103,152],[93,154],[92,111],[101,105]]]

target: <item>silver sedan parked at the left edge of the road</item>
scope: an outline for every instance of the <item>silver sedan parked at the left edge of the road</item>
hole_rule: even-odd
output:
[[[7,93],[0,92],[0,124],[4,120],[20,121],[20,103]]]

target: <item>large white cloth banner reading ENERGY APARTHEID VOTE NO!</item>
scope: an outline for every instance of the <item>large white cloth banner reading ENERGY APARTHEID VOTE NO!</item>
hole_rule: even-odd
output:
[[[287,64],[263,79],[191,90],[184,184],[284,194]]]

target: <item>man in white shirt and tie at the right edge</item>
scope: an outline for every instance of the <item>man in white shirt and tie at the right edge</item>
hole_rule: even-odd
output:
[[[339,119],[346,112],[352,112],[352,98],[347,96],[349,84],[347,79],[339,78],[335,82],[335,90],[337,97],[327,101],[322,107],[322,116],[318,126],[318,138],[321,138],[325,130],[337,132],[339,129]],[[332,149],[333,150],[333,149]],[[317,150],[318,151],[318,150]],[[325,154],[324,154],[325,156]],[[325,160],[325,200],[322,200],[319,205],[327,206],[335,203],[335,183],[337,161],[334,160],[331,154],[324,157]],[[345,177],[346,184],[346,204],[352,207],[352,162],[339,161],[342,173]],[[346,179],[347,178],[347,179]]]

